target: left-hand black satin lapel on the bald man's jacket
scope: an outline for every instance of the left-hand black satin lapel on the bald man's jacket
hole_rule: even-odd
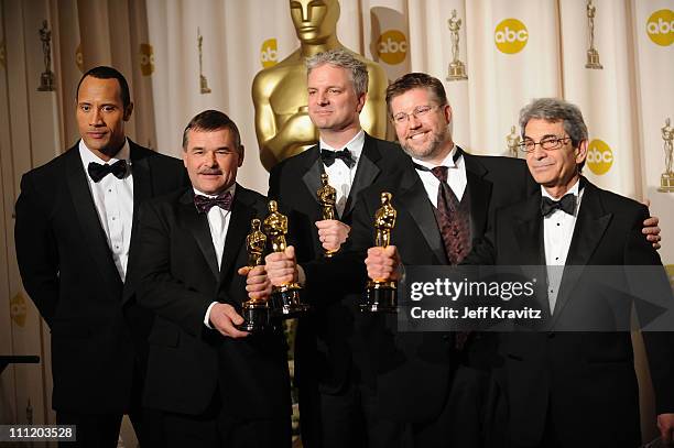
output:
[[[108,247],[108,239],[104,231],[96,205],[89,190],[88,179],[81,165],[79,150],[77,146],[69,150],[68,161],[66,163],[66,178],[75,214],[79,221],[83,238],[87,243],[87,248],[91,253],[94,263],[98,267],[101,277],[107,284],[107,291],[112,293],[116,299],[120,299],[123,283],[119,276],[119,271],[112,260],[112,253]]]

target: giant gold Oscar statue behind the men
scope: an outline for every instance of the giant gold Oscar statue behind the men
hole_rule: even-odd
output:
[[[300,48],[275,66],[259,72],[252,85],[260,160],[268,171],[318,141],[318,132],[308,116],[304,62],[317,53],[344,48],[337,39],[337,0],[291,0],[289,3]],[[370,76],[360,123],[370,135],[385,139],[387,75],[373,61],[355,56],[366,63]]]

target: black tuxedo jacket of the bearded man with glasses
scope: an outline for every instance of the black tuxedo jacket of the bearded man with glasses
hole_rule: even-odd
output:
[[[470,198],[471,234],[478,238],[489,228],[494,210],[526,197],[533,182],[523,161],[466,153],[463,156],[466,194]],[[402,263],[448,264],[433,205],[412,160],[406,157],[395,176],[384,178],[361,193],[347,248],[335,263],[331,266],[319,263],[305,266],[307,291],[320,287],[319,283],[326,281],[365,289],[362,260],[367,256],[367,249],[374,245],[373,217],[381,206],[381,192],[392,193],[392,205],[398,210],[391,244],[398,248]],[[349,277],[357,281],[348,281]],[[388,419],[435,419],[448,397],[452,372],[457,362],[465,362],[464,358],[467,358],[472,363],[483,364],[490,358],[489,351],[496,350],[492,338],[478,338],[470,343],[468,352],[459,357],[453,349],[452,334],[399,334],[395,315],[361,313],[357,317],[357,332],[366,354],[361,360],[363,380],[377,390],[378,413]]]

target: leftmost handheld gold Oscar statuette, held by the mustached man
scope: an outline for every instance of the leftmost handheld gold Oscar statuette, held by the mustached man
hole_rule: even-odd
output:
[[[267,236],[260,230],[261,222],[258,218],[250,221],[250,233],[246,237],[246,250],[248,252],[248,266],[256,267],[263,263],[264,248],[267,247]],[[243,324],[237,328],[241,331],[258,332],[263,331],[270,326],[269,303],[262,298],[251,298],[243,302],[241,307]]]

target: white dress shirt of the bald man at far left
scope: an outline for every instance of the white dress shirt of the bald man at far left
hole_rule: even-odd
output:
[[[122,282],[127,276],[131,227],[133,225],[133,175],[130,153],[131,150],[127,140],[115,157],[105,162],[87,147],[84,140],[79,141],[79,156],[88,181],[89,192],[94,198],[98,219],[106,232],[108,247],[112,252],[112,259]],[[128,167],[127,174],[121,179],[112,174],[108,174],[100,182],[94,182],[89,177],[87,171],[89,163],[112,165],[121,160],[127,161]]]

